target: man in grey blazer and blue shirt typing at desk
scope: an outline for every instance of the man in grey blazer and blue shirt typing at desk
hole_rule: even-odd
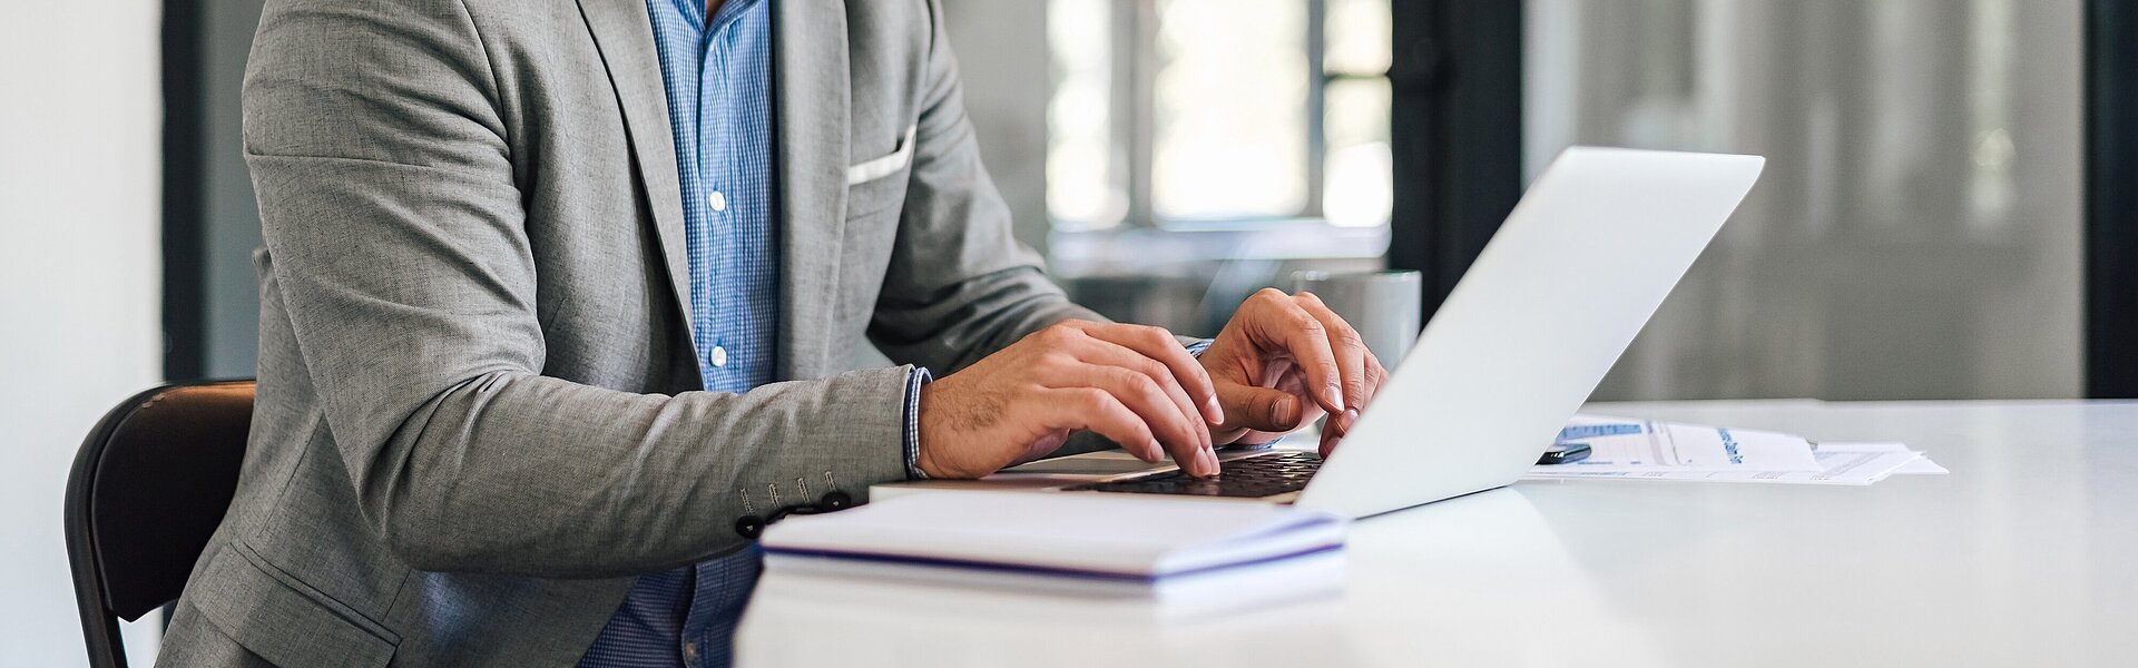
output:
[[[269,2],[252,447],[165,664],[725,664],[780,507],[1078,430],[1212,475],[1332,413],[1328,450],[1383,375],[1355,332],[1264,291],[1195,358],[1069,304],[939,13]],[[845,370],[864,338],[904,366]]]

